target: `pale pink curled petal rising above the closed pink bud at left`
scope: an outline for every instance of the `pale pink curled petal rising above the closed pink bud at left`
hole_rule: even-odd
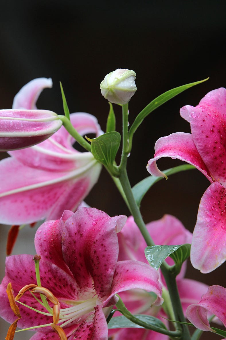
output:
[[[52,87],[51,78],[37,78],[24,85],[14,97],[13,108],[36,109],[36,101],[42,90]]]

